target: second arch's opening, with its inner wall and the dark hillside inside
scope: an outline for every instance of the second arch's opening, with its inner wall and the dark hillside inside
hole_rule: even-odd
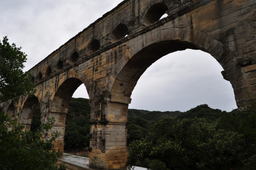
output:
[[[81,89],[79,86],[83,88]],[[89,99],[72,98],[78,88],[87,91],[80,79],[66,79],[59,86],[51,104],[49,117],[54,116],[56,120],[51,131],[56,130],[54,128],[58,127],[58,132],[66,134],[65,138],[64,135],[61,135],[54,145],[54,147],[60,148],[62,152],[64,152],[64,148],[65,150],[71,148],[78,148],[80,150],[83,147],[89,147],[87,134],[90,133],[90,124],[88,122],[90,121],[91,109]],[[81,107],[83,109],[79,110]]]

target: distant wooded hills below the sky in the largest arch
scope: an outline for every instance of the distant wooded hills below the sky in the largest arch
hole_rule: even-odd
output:
[[[159,121],[162,118],[173,118],[174,120],[179,120],[182,118],[206,118],[207,121],[213,122],[220,118],[222,115],[229,115],[226,111],[221,111],[219,109],[212,109],[208,105],[199,105],[187,112],[160,112],[160,111],[148,111],[148,110],[137,110],[128,109],[128,126],[127,134],[129,138],[127,139],[127,144],[129,145],[133,140],[140,140],[150,131],[152,128],[150,125],[154,124],[155,121]]]

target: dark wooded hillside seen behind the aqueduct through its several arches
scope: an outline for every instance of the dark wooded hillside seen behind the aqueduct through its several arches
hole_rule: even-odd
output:
[[[65,128],[65,150],[71,148],[89,147],[90,140],[87,135],[90,133],[90,104],[88,99],[84,98],[71,98],[68,106],[68,113],[66,116]],[[182,118],[206,118],[208,122],[212,122],[220,118],[222,115],[229,115],[226,111],[219,109],[212,109],[208,105],[199,105],[187,112],[160,112],[128,109],[128,126],[127,126],[127,145],[134,140],[140,140],[152,131],[151,125],[162,118],[172,118],[179,120]],[[40,122],[40,108],[39,104],[35,109],[31,131],[35,131]],[[35,129],[35,130],[33,130]]]

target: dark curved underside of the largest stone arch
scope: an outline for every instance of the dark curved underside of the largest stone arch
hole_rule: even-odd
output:
[[[169,53],[185,49],[198,50],[199,48],[180,40],[162,41],[145,47],[135,54],[117,75],[112,88],[115,91],[112,91],[111,94],[131,97],[140,76],[151,64]]]

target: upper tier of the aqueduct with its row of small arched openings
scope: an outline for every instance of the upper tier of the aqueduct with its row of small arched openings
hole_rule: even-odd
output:
[[[136,3],[136,1],[133,3]],[[123,8],[124,4],[126,5],[125,8],[127,8],[127,10],[123,9],[125,12],[120,13],[117,9]],[[129,1],[123,1],[114,8],[114,10],[116,9],[117,11],[110,11],[113,13],[110,20],[105,20],[106,18],[109,18],[107,15],[103,15],[103,17],[99,19],[111,24],[108,24],[108,26],[104,25],[104,28],[102,28],[101,23],[97,20],[92,25],[92,28],[89,26],[84,30],[86,33],[83,33],[84,31],[82,31],[74,38],[70,39],[69,42],[50,54],[45,60],[38,63],[35,66],[37,69],[30,70],[33,75],[31,82],[38,83],[69,65],[77,63],[82,58],[157,22],[162,15],[166,14],[166,11],[173,7],[174,3],[167,0],[150,0],[144,3],[144,10],[141,11],[138,17],[127,17],[130,15],[129,13],[132,12],[131,5],[132,3]],[[118,19],[116,19],[116,17]],[[102,29],[104,31],[101,31]],[[93,32],[91,33],[91,31]],[[82,44],[79,42],[81,36]]]

